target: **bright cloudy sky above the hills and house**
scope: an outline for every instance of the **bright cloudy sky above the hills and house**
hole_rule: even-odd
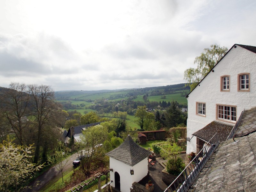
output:
[[[211,44],[256,46],[255,0],[1,0],[0,86],[185,83]]]

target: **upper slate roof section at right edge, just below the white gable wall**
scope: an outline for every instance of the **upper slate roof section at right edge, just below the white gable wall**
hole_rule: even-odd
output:
[[[246,110],[236,129],[234,137],[242,137],[256,131],[256,107]]]

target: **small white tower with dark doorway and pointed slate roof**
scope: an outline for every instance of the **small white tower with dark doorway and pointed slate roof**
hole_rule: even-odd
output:
[[[140,147],[128,135],[117,148],[107,153],[109,156],[110,185],[122,192],[130,192],[133,182],[139,182],[148,174],[148,156],[152,152]]]

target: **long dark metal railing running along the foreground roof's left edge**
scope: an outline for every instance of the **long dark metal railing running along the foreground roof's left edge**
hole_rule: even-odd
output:
[[[215,133],[216,135],[217,133]],[[169,185],[164,192],[176,191],[176,192],[186,192],[191,187],[196,177],[199,175],[200,171],[203,169],[204,165],[207,163],[208,159],[212,153],[219,146],[220,141],[216,140],[215,135],[211,140],[202,148],[202,150],[191,160],[191,162],[185,167],[185,169],[180,173],[180,175]]]

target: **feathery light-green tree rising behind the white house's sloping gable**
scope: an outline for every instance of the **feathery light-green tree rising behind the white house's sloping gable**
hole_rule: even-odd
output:
[[[227,51],[227,47],[212,44],[210,48],[205,48],[201,55],[196,57],[194,64],[197,64],[197,67],[188,68],[184,71],[184,79],[188,82],[186,86],[190,86],[190,91],[212,70]]]

